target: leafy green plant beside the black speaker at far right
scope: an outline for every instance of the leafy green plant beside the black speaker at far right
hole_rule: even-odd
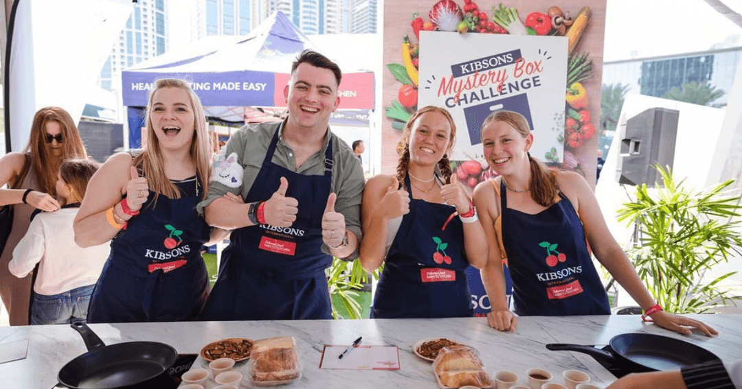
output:
[[[719,283],[736,272],[703,279],[709,270],[740,252],[740,196],[729,196],[733,180],[695,191],[674,182],[668,168],[655,167],[663,187],[637,186],[636,199],[618,212],[619,221],[636,223],[637,245],[627,250],[649,292],[665,310],[703,313],[723,305],[729,295]]]

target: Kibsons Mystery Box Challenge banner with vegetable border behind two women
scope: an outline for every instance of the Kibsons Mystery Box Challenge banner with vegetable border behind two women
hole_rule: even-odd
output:
[[[382,171],[395,170],[407,119],[436,105],[456,122],[451,168],[473,190],[496,176],[483,155],[482,122],[512,110],[531,127],[531,156],[580,173],[594,187],[604,27],[605,1],[414,0],[384,7]],[[486,316],[479,270],[469,267],[467,279],[475,315]]]

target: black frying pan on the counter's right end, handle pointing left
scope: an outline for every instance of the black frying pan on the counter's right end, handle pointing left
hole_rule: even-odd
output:
[[[549,350],[587,353],[608,363],[623,362],[636,371],[673,370],[718,360],[709,350],[692,343],[650,333],[623,333],[611,338],[614,353],[592,346],[551,343]]]

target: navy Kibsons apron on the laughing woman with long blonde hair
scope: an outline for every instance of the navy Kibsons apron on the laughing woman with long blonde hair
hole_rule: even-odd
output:
[[[180,199],[150,190],[138,216],[111,242],[88,306],[89,323],[196,319],[209,293],[201,246],[210,227],[197,211],[197,179],[174,182]]]

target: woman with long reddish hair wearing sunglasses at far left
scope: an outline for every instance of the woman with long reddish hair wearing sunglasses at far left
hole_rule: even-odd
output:
[[[87,158],[85,146],[70,114],[60,107],[36,112],[30,139],[20,153],[0,159],[0,206],[13,207],[13,229],[0,257],[0,296],[10,315],[10,325],[28,325],[33,272],[22,279],[8,270],[13,248],[25,235],[34,209],[59,209],[56,173],[65,159]],[[1,243],[1,242],[0,242]]]

